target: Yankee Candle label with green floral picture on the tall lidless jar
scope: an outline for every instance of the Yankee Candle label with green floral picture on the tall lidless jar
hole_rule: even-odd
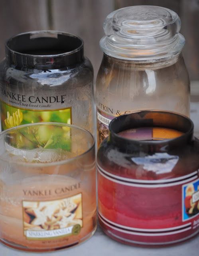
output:
[[[68,106],[65,90],[32,91],[0,86],[2,130],[31,122],[72,124],[72,107]]]

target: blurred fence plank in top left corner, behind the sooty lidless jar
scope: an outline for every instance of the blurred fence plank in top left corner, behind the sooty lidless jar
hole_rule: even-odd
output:
[[[1,0],[0,59],[4,58],[4,43],[15,34],[48,29],[46,0]]]

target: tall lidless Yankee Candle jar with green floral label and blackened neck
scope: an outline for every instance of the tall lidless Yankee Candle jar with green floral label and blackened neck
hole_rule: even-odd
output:
[[[2,130],[63,122],[93,132],[93,67],[83,40],[58,31],[18,34],[0,64]]]

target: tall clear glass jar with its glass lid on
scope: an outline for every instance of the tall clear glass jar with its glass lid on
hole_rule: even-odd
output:
[[[106,17],[96,82],[98,145],[121,114],[149,109],[189,116],[180,27],[175,12],[158,6],[126,7]]]

